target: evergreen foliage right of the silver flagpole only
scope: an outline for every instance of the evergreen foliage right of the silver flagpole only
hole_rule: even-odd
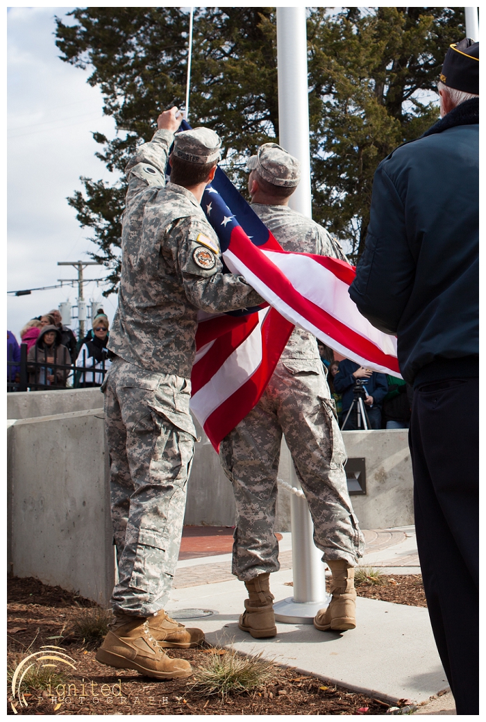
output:
[[[430,91],[450,43],[464,32],[461,8],[311,14],[313,218],[347,241],[355,262],[364,248],[376,167],[438,119]]]

